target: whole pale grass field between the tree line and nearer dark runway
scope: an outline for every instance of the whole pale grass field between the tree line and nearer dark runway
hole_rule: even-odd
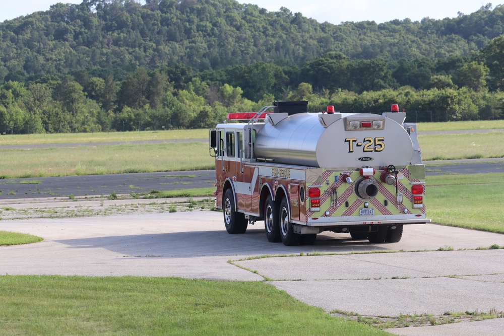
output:
[[[493,121],[504,127],[504,120]],[[426,130],[442,123],[420,124]],[[448,129],[490,127],[487,121],[465,121]],[[419,128],[421,128],[419,126]],[[12,137],[12,139],[11,139]],[[125,142],[149,140],[206,139],[208,130],[169,130],[112,133],[78,133],[61,135],[7,136],[6,144],[47,144],[83,142]],[[504,132],[463,135],[419,136],[423,160],[450,160],[504,157]],[[3,142],[0,140],[0,144]],[[206,143],[164,143],[116,146],[51,147],[31,150],[0,146],[0,177],[48,177],[69,175],[118,174],[132,172],[213,169],[214,159]]]

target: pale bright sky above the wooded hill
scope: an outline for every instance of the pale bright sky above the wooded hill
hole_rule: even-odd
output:
[[[57,0],[1,0],[0,22],[17,18],[37,11],[47,11]],[[82,0],[60,1],[80,4]],[[303,16],[319,22],[340,24],[345,21],[387,22],[394,19],[409,18],[420,21],[425,17],[444,19],[457,17],[458,12],[470,14],[476,12],[488,0],[238,0],[243,4],[256,4],[268,11],[276,12],[280,7],[288,8],[292,13],[300,12]],[[498,3],[493,3],[495,7]]]

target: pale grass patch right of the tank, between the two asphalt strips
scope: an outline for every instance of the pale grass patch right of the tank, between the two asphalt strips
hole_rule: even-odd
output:
[[[418,136],[422,160],[504,157],[504,132]]]

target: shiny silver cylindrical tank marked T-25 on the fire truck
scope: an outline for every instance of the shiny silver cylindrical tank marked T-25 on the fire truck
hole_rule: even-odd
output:
[[[377,114],[293,114],[280,122],[266,123],[258,132],[254,151],[258,159],[276,163],[346,169],[355,167],[403,167],[411,163],[413,145],[402,125]],[[383,120],[379,129],[352,128],[350,121]],[[374,126],[374,123],[373,123]]]

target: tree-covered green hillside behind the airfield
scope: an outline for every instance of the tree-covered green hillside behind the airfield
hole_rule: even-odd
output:
[[[57,4],[0,24],[0,131],[209,127],[287,99],[498,118],[503,32],[504,7],[490,4],[454,19],[341,25],[234,0]]]

